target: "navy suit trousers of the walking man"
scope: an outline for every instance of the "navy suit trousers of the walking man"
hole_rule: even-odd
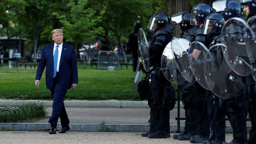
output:
[[[51,88],[51,95],[53,97],[52,115],[48,121],[48,123],[51,124],[51,127],[56,128],[59,118],[61,120],[62,127],[67,127],[69,125],[68,115],[64,106],[64,98],[66,93],[67,90],[64,90],[60,87],[57,74],[57,76],[54,78],[54,86]]]

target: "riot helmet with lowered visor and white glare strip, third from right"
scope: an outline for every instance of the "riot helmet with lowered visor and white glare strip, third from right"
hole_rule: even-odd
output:
[[[204,34],[220,33],[224,25],[222,12],[211,13],[204,22]]]

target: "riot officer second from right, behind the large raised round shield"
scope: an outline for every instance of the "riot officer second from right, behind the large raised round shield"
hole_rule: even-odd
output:
[[[227,1],[225,11],[223,12],[223,18],[225,21],[232,17],[243,17],[243,7],[237,1]],[[226,32],[231,32],[232,29],[241,29],[239,25],[233,25],[226,27]],[[235,39],[243,38],[243,33],[236,32],[232,35]],[[235,42],[231,42],[235,43]],[[228,46],[228,49],[234,49],[234,47]],[[232,45],[232,44],[231,44]],[[234,73],[231,71],[231,73]],[[241,83],[244,81],[241,80]],[[245,84],[243,85],[245,86]],[[231,127],[233,128],[233,140],[228,144],[245,144],[247,143],[247,127],[246,127],[246,113],[245,112],[245,93],[243,92],[244,87],[240,87],[240,92],[237,92],[235,96],[231,99],[227,99],[222,103],[225,103],[227,109],[227,116],[230,121]]]

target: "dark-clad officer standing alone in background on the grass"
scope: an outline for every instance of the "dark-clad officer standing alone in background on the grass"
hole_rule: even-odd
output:
[[[141,28],[139,22],[135,22],[133,24],[134,30],[130,33],[128,43],[129,47],[132,52],[132,58],[133,58],[133,71],[136,71],[137,63],[138,63],[138,31]]]

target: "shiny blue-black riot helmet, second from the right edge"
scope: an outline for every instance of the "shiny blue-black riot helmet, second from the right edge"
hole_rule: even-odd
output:
[[[232,17],[238,17],[243,15],[243,7],[237,1],[227,1],[226,8],[223,12],[223,18],[225,21]]]

